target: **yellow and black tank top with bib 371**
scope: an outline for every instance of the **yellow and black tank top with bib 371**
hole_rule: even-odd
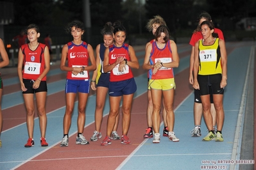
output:
[[[212,75],[222,73],[221,52],[219,49],[219,38],[212,45],[203,45],[199,40],[199,75]]]

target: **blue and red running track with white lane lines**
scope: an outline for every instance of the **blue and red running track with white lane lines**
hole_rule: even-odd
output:
[[[134,47],[134,49],[142,65],[144,45]],[[252,150],[249,149],[252,157],[243,158],[254,161],[253,128],[251,132],[244,130],[244,125],[248,125],[244,122],[249,121],[249,127],[253,127],[255,119],[255,101],[253,100],[253,95],[255,96],[253,82],[255,42],[227,42],[226,49],[228,52],[228,85],[224,97],[223,137],[225,141],[223,143],[201,141],[202,137],[207,134],[203,120],[202,137],[190,135],[194,126],[192,112],[194,96],[188,82],[190,45],[178,44],[180,66],[175,68],[175,133],[180,138],[178,143],[169,141],[167,137],[161,137],[160,144],[153,144],[152,139],[143,139],[142,136],[147,127],[147,72],[139,68],[139,70],[133,70],[137,92],[133,100],[132,120],[128,133],[132,144],[124,145],[120,141],[112,141],[109,146],[100,146],[102,141],[100,139],[84,146],[76,145],[76,103],[69,131],[69,146],[60,147],[63,135],[62,120],[65,112],[65,72],[59,69],[57,63],[51,66],[47,74],[46,139],[49,146],[46,148],[40,146],[40,130],[36,116],[35,146],[24,148],[28,133],[19,79],[16,68],[3,68],[1,72],[4,82],[2,102],[4,125],[1,135],[3,147],[0,148],[0,169],[239,169],[239,167],[240,169],[253,169],[253,164],[235,163],[241,160],[243,151],[246,151],[248,146],[252,146]],[[250,98],[252,100],[249,100]],[[88,140],[94,131],[95,101],[95,92],[91,90],[84,130],[84,135]],[[103,137],[106,134],[108,111],[107,98],[101,128]],[[121,117],[117,130],[119,135],[121,135]],[[248,155],[248,152],[245,155]],[[225,161],[221,162],[221,160]]]

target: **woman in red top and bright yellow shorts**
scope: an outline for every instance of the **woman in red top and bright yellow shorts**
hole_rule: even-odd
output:
[[[152,122],[155,132],[153,143],[160,143],[160,109],[162,95],[167,112],[168,137],[170,141],[178,142],[173,132],[175,114],[173,112],[173,100],[175,91],[175,79],[173,68],[178,67],[179,57],[176,43],[169,40],[167,26],[159,26],[155,33],[155,42],[146,49],[143,68],[149,70],[149,86],[153,101]]]

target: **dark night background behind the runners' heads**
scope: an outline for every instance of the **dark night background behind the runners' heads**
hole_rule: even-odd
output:
[[[0,0],[0,2],[3,0]],[[7,1],[7,0],[5,0]],[[49,33],[53,45],[72,40],[64,31],[74,19],[85,23],[83,0],[8,0],[13,6],[13,21],[4,25],[4,43],[31,23],[40,27],[42,42]],[[237,24],[241,19],[255,19],[255,0],[90,0],[90,37],[83,40],[92,47],[102,42],[100,30],[108,21],[121,20],[127,29],[131,45],[144,45],[153,35],[146,30],[146,23],[155,15],[166,20],[176,43],[189,43],[192,31],[198,24],[198,15],[208,12],[214,25],[223,31],[226,41],[254,38],[255,22]],[[0,17],[1,18],[1,17]],[[249,31],[246,28],[250,27]],[[13,44],[15,46],[15,44]],[[13,46],[12,46],[13,47]]]

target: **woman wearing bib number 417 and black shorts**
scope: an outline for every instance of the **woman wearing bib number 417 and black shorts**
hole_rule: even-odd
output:
[[[41,146],[48,146],[46,143],[46,95],[47,84],[46,74],[49,72],[49,50],[45,44],[39,43],[40,31],[37,25],[30,24],[26,34],[30,43],[26,43],[19,49],[18,75],[21,82],[21,90],[27,112],[28,142],[25,147],[34,146],[34,93],[37,100],[37,111],[41,131]],[[24,66],[24,68],[23,68]]]

